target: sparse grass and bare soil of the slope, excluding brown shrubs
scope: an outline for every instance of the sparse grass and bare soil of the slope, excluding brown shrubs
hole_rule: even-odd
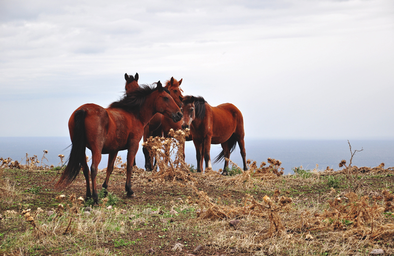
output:
[[[201,220],[196,214],[202,205],[201,198],[190,184],[149,182],[150,175],[133,175],[132,188],[138,196],[130,199],[124,192],[125,175],[112,174],[108,189],[120,200],[113,209],[94,206],[99,213],[87,215],[83,205],[69,200],[71,194],[84,196],[83,175],[66,190],[55,191],[54,170],[3,170],[0,177],[1,254],[144,255],[152,248],[156,255],[174,255],[171,249],[176,243],[184,245],[178,255],[231,255],[232,250],[236,255],[368,255],[377,248],[394,254],[390,240],[350,234],[356,230],[353,223],[345,223],[339,229],[321,228],[321,224],[314,223],[317,220],[314,215],[323,216],[330,209],[328,202],[338,197],[347,200],[345,194],[351,188],[342,174],[287,175],[251,179],[241,184],[227,182],[231,177],[195,176],[194,186],[223,207],[244,205],[246,194],[253,195],[258,202],[263,202],[265,195],[273,198],[275,190],[291,197],[291,205],[279,213],[285,232],[272,237],[267,236],[270,221],[266,216],[240,215],[241,224],[236,227],[231,227],[229,220]],[[98,177],[100,187],[105,173],[99,172]],[[363,182],[358,195],[367,195],[370,205],[376,202],[378,208],[384,207],[381,192],[393,191],[393,173],[360,174],[361,177]],[[60,194],[66,194],[66,199],[55,199]],[[60,203],[69,207],[65,205],[64,210],[58,210]],[[42,212],[38,209],[37,213],[38,207]],[[26,209],[31,209],[36,227],[25,221],[22,211]],[[55,213],[48,216],[52,209]],[[177,213],[170,212],[172,209]],[[126,213],[122,214],[121,210]],[[157,210],[163,212],[151,214]],[[393,215],[376,211],[375,222],[394,224]],[[141,218],[143,223],[135,222]],[[168,218],[172,218],[172,222],[162,222]],[[329,218],[323,222],[327,220]],[[202,249],[193,252],[198,245]]]

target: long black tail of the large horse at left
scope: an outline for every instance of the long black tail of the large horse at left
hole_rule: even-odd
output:
[[[72,138],[71,152],[68,163],[62,177],[55,187],[66,187],[75,180],[83,163],[86,161],[86,135],[85,135],[85,110],[75,111],[74,115],[74,135]]]

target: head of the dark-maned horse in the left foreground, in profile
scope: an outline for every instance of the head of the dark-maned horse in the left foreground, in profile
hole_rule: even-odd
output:
[[[170,96],[170,91],[162,86],[162,83],[157,82],[157,96],[154,100],[155,110],[169,118],[172,118],[174,123],[181,121],[182,113],[180,112],[178,104]]]

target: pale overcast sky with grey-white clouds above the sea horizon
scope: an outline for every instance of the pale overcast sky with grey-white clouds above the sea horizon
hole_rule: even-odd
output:
[[[393,139],[393,0],[0,0],[0,136],[68,136],[139,83],[231,102],[249,138]]]

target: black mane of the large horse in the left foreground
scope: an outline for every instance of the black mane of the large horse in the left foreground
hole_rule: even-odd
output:
[[[125,95],[121,99],[112,102],[108,107],[121,108],[128,112],[139,112],[142,104],[145,101],[146,96],[157,90],[157,87],[154,86],[155,84],[142,84],[139,86],[139,88],[131,90],[129,93],[125,93]],[[170,94],[170,92],[166,88],[163,87],[163,90],[167,94]]]

